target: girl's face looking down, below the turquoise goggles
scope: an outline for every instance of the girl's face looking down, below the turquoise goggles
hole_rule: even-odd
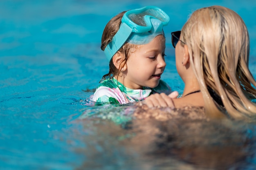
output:
[[[166,63],[164,61],[165,42],[157,35],[150,43],[131,49],[127,60],[124,86],[132,89],[154,88],[159,84]]]

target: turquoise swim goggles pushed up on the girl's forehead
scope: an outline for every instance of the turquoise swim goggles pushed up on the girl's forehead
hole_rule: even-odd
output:
[[[104,50],[108,61],[125,42],[137,45],[148,44],[157,35],[164,35],[163,26],[166,26],[169,20],[169,16],[162,9],[154,6],[124,13],[119,30]]]

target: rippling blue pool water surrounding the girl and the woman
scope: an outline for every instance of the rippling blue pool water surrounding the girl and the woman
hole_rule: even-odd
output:
[[[244,19],[251,42],[249,68],[256,77],[254,0],[0,1],[0,169],[221,169],[225,162],[220,166],[210,166],[212,161],[203,160],[204,166],[198,167],[202,164],[198,160],[207,157],[202,156],[205,154],[202,151],[209,149],[207,146],[215,148],[221,142],[220,146],[225,146],[223,153],[218,152],[219,148],[214,152],[207,150],[207,153],[217,156],[228,153],[225,158],[240,154],[243,157],[237,156],[236,161],[223,160],[232,170],[256,169],[254,124],[224,121],[219,122],[222,128],[216,130],[216,122],[193,122],[200,129],[206,126],[210,131],[214,129],[219,143],[209,131],[202,131],[202,136],[195,132],[193,135],[197,138],[193,141],[206,144],[193,154],[202,157],[181,161],[182,153],[188,148],[179,151],[178,159],[177,155],[172,157],[173,153],[166,153],[171,146],[167,147],[164,142],[160,143],[165,151],[161,148],[142,151],[143,146],[149,147],[150,135],[139,138],[144,140],[135,137],[126,141],[136,132],[139,134],[138,131],[129,131],[129,125],[122,124],[130,120],[132,110],[120,116],[121,106],[96,108],[86,100],[93,94],[102,75],[108,72],[108,62],[100,50],[100,43],[103,29],[111,17],[146,5],[155,5],[166,11],[171,20],[165,28],[167,66],[162,79],[181,93],[184,85],[175,70],[170,33],[180,30],[194,10],[215,4],[233,9]],[[106,121],[86,119],[82,116],[86,110],[92,115],[102,115]],[[111,116],[114,118],[108,120],[115,121],[107,121]],[[121,117],[120,120],[117,117]],[[142,123],[145,127],[162,126],[159,122]],[[172,128],[179,127],[175,124],[177,122],[169,123]],[[182,123],[187,125],[187,122]],[[120,124],[125,128],[120,128]],[[212,125],[211,128],[206,124]],[[177,132],[188,130],[183,128],[178,128]],[[180,142],[175,148],[182,148],[182,142],[190,145],[190,139],[189,134],[177,135]],[[225,142],[230,145],[225,145]],[[234,150],[238,152],[234,153]],[[145,152],[155,154],[145,156]]]

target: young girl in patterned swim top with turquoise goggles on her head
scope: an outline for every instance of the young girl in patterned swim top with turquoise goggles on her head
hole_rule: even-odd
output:
[[[109,73],[103,75],[92,101],[126,104],[153,93],[171,93],[160,80],[166,66],[163,26],[168,22],[168,15],[153,6],[124,11],[108,22],[101,49],[109,60]]]

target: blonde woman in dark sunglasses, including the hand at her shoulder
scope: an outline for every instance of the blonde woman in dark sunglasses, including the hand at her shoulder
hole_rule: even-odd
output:
[[[212,6],[195,11],[172,33],[182,97],[149,96],[149,107],[203,106],[209,117],[241,119],[256,115],[256,82],[248,68],[249,35],[231,9]],[[173,95],[173,94],[172,94]]]

